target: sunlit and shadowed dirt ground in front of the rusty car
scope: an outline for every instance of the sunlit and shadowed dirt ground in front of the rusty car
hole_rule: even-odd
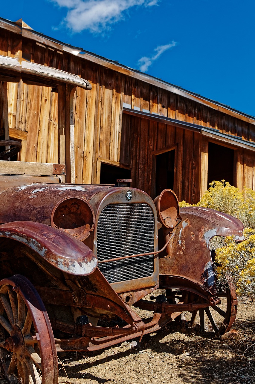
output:
[[[233,328],[240,339],[215,338],[174,323],[145,335],[141,350],[125,342],[59,356],[59,384],[255,383],[255,303],[239,299]]]

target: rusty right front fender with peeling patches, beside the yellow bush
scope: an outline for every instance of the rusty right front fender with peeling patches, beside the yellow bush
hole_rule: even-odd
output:
[[[215,274],[209,241],[214,236],[233,235],[244,240],[240,220],[209,208],[180,209],[181,221],[167,234],[171,237],[167,255],[159,260],[160,275],[182,276],[202,284],[206,291],[216,293]]]

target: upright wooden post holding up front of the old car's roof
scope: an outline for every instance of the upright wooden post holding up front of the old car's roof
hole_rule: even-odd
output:
[[[76,87],[65,84],[58,87],[59,164],[65,164],[62,182],[75,183],[74,162],[74,93]]]

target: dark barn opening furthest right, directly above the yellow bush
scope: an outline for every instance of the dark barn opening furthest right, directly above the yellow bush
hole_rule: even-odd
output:
[[[208,143],[208,187],[212,180],[234,185],[234,149]]]

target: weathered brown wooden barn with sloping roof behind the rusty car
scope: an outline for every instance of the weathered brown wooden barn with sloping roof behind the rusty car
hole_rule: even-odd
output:
[[[92,84],[74,96],[76,183],[126,177],[153,198],[171,188],[190,203],[211,180],[255,190],[254,117],[44,36],[22,20],[0,19],[0,55],[22,56]],[[57,162],[54,91],[7,83],[9,135],[22,142],[18,161]]]

